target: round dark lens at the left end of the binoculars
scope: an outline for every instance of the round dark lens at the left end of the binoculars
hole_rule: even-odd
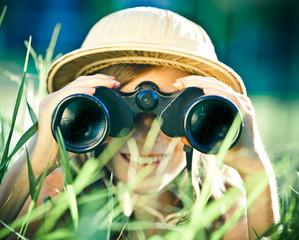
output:
[[[98,100],[90,97],[70,98],[61,105],[58,123],[66,148],[86,152],[102,143],[109,129],[109,115]],[[58,117],[59,119],[59,117]]]

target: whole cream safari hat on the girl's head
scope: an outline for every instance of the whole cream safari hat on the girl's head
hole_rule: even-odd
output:
[[[47,76],[54,92],[80,75],[119,63],[153,64],[212,76],[246,94],[240,76],[218,61],[206,32],[169,10],[136,7],[97,22],[80,49],[57,59]]]

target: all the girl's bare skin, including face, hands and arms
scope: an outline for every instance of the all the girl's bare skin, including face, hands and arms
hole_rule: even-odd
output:
[[[142,81],[152,81],[156,83],[161,91],[172,92],[182,90],[186,87],[202,88],[206,95],[221,95],[233,101],[244,115],[244,132],[240,141],[231,149],[226,158],[225,164],[235,169],[244,182],[254,179],[255,174],[262,173],[268,179],[268,184],[263,193],[252,204],[252,206],[244,212],[243,217],[238,221],[225,236],[225,239],[255,239],[252,227],[258,234],[262,234],[271,225],[279,221],[278,200],[276,193],[275,176],[270,161],[263,149],[261,139],[258,134],[254,108],[247,96],[241,95],[233,91],[227,85],[217,81],[212,77],[200,77],[189,75],[186,72],[177,69],[156,68],[149,72],[136,77],[129,84],[125,85],[121,90],[130,92],[135,86]],[[120,84],[111,76],[93,75],[79,77],[63,89],[49,94],[40,104],[39,109],[39,129],[38,133],[32,138],[28,145],[30,161],[36,179],[39,179],[48,163],[52,173],[48,175],[47,181],[53,182],[61,179],[61,174],[57,174],[57,161],[59,161],[58,146],[54,140],[50,126],[51,114],[55,106],[66,96],[74,93],[94,94],[95,87],[107,86],[109,88],[118,88]],[[153,148],[149,153],[142,151],[143,143],[147,136],[148,130],[154,120],[151,114],[142,114],[136,122],[136,126],[132,132],[135,139],[140,156],[156,156],[163,155],[167,146],[172,141],[171,138],[158,133],[158,137],[154,142]],[[137,184],[135,191],[137,193],[145,193],[148,191],[160,191],[169,184],[185,167],[185,157],[183,152],[183,143],[187,143],[185,138],[182,141],[176,141],[174,154],[171,155],[168,162],[163,160],[156,164],[149,164],[152,172]],[[187,143],[188,144],[188,143]],[[50,147],[49,147],[50,146]],[[124,145],[120,151],[112,158],[107,167],[114,173],[116,179],[122,182],[128,182],[131,176],[128,173],[138,173],[144,166],[126,161],[123,154],[129,154],[128,145]],[[42,158],[40,156],[43,156]],[[163,162],[163,164],[162,164]],[[175,164],[174,164],[175,163]],[[163,168],[162,168],[163,165]],[[163,174],[160,174],[163,170]],[[157,179],[159,173],[159,181]],[[246,198],[251,196],[252,185],[243,191],[238,202],[228,211],[227,218],[230,218],[236,209],[244,207]],[[55,196],[62,190],[61,181],[57,181],[55,186],[44,190],[43,198],[47,195]],[[26,199],[29,196],[29,184],[27,178],[27,164],[25,154],[20,157],[16,164],[9,170],[5,180],[0,186],[0,206],[6,204],[5,209],[1,213],[1,220],[9,223],[13,221],[19,214]],[[28,200],[27,203],[29,203]],[[168,193],[158,195],[157,201],[171,203],[173,199]],[[143,219],[145,214],[139,212],[136,214],[137,219]]]

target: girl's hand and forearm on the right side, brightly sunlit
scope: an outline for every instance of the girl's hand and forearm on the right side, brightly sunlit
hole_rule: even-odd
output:
[[[249,237],[257,239],[254,230],[258,235],[262,235],[268,228],[278,223],[280,217],[274,171],[259,136],[255,111],[250,99],[212,77],[191,75],[179,79],[174,85],[178,90],[194,86],[203,89],[205,95],[224,96],[234,102],[243,113],[242,137],[228,152],[225,164],[234,168],[247,184],[247,201],[252,198],[254,190],[262,184],[262,181],[266,181],[265,189],[247,209]],[[263,177],[257,179],[257,174]]]

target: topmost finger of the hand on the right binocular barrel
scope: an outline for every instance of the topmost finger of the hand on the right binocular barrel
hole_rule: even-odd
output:
[[[218,81],[213,77],[203,77],[197,75],[190,75],[184,78],[179,78],[173,84],[178,90],[182,90],[187,87],[198,87],[198,88],[223,88],[227,90],[232,90],[231,87]]]

